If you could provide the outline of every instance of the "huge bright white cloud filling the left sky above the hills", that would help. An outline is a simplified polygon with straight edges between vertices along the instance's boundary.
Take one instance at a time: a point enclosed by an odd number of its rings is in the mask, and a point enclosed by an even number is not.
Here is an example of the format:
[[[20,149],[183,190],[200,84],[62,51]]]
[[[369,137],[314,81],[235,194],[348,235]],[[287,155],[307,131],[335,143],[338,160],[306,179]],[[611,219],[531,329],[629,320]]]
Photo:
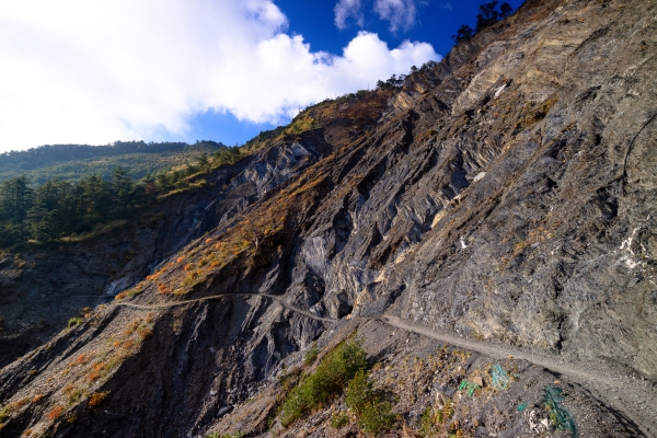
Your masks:
[[[208,110],[279,123],[439,58],[364,32],[313,53],[286,26],[269,0],[0,0],[0,151],[158,140]]]

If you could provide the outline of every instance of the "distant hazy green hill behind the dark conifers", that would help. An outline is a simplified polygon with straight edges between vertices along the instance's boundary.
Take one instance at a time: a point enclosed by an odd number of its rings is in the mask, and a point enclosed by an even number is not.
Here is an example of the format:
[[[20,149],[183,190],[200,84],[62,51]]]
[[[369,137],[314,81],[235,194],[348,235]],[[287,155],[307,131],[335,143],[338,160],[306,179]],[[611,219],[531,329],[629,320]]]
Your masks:
[[[0,182],[23,174],[32,184],[50,178],[78,182],[83,176],[99,175],[108,180],[114,168],[124,168],[134,180],[157,171],[193,161],[201,153],[211,154],[224,148],[215,141],[196,145],[183,142],[146,143],[116,141],[107,146],[48,145],[26,151],[0,153]]]

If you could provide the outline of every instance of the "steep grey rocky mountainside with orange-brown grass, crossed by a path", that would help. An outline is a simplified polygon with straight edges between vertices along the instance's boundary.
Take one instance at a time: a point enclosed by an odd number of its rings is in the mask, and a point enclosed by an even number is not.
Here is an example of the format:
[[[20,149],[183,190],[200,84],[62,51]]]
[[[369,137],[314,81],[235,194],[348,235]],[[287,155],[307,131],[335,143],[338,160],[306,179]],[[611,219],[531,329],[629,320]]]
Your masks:
[[[656,8],[528,0],[4,254],[0,435],[657,436]]]

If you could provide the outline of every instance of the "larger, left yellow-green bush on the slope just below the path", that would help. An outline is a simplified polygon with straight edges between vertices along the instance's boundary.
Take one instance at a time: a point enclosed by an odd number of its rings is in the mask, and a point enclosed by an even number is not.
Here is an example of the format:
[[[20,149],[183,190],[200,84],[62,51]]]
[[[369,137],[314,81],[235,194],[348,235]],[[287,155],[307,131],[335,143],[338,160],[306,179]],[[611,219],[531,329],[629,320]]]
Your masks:
[[[342,343],[289,393],[280,408],[280,424],[287,427],[311,410],[325,405],[358,371],[365,369],[367,354],[360,341],[350,338]]]

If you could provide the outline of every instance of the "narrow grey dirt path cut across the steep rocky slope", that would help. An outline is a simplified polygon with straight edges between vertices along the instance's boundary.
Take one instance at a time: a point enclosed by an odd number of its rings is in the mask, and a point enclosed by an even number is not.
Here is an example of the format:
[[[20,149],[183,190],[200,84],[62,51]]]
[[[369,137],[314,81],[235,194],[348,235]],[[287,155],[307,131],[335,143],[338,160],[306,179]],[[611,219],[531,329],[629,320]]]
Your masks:
[[[299,313],[307,318],[325,323],[337,323],[338,320],[319,316],[314,313],[290,304],[281,297],[266,293],[224,293],[204,297],[194,300],[176,301],[162,304],[136,304],[130,302],[118,302],[122,306],[137,310],[162,310],[178,306],[192,304],[208,300],[216,300],[227,296],[257,296],[278,302],[285,309]],[[657,437],[657,389],[655,382],[635,379],[622,372],[596,366],[595,364],[566,362],[563,358],[544,353],[527,351],[508,345],[492,344],[457,336],[452,333],[437,331],[415,323],[404,322],[396,316],[382,315],[374,318],[361,316],[364,320],[378,321],[380,323],[430,337],[457,347],[465,348],[494,359],[504,359],[512,356],[516,359],[527,360],[543,367],[554,373],[572,378],[577,383],[587,388],[593,396],[604,404],[612,406],[619,413],[630,418],[647,437]]]

